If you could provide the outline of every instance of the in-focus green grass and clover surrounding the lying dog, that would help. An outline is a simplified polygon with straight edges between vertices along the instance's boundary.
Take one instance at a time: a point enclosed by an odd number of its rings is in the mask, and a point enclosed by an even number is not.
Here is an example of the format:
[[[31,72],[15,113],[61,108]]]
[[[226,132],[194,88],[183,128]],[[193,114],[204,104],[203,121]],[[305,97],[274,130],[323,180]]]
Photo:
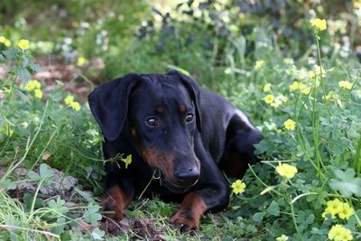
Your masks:
[[[361,238],[360,65],[352,56],[332,60],[321,56],[322,39],[315,39],[318,48],[300,60],[283,58],[275,43],[258,47],[253,56],[246,56],[237,43],[230,44],[226,65],[211,67],[207,73],[219,77],[216,82],[207,82],[201,72],[196,74],[203,84],[208,83],[251,116],[266,137],[256,150],[264,161],[246,172],[245,192],[233,193],[227,210],[207,214],[195,236],[171,227],[167,217],[179,206],[157,198],[132,202],[126,216],[150,222],[167,240],[274,240],[282,235],[289,240],[326,240],[336,224],[347,227],[355,240]],[[146,50],[142,54],[146,56]],[[61,84],[48,91],[47,97],[35,97],[33,90],[27,91],[17,81],[18,75],[27,80],[22,75],[24,68],[34,69],[23,65],[31,60],[30,53],[15,48],[5,58],[13,60],[16,71],[0,80],[0,160],[7,170],[0,180],[1,239],[114,240],[99,229],[82,235],[77,228],[84,223],[97,227],[97,200],[104,174],[101,136],[88,105],[79,111],[66,105],[69,93]],[[207,60],[203,64],[208,66]],[[316,64],[326,70],[325,76],[318,74]],[[179,68],[184,67],[180,64]],[[345,80],[350,86],[341,88],[339,83]],[[295,81],[302,84],[298,85],[301,89],[290,89]],[[269,89],[264,88],[266,84]],[[275,99],[270,104],[264,101],[267,95]],[[285,127],[288,119],[294,121],[294,129]],[[46,161],[44,153],[50,153]],[[27,199],[13,199],[19,184],[14,168],[37,170],[43,162],[76,176],[93,194],[78,190],[82,204],[76,208],[65,207],[65,197],[51,201],[38,191],[29,193]],[[280,163],[288,163],[298,172],[284,178],[275,171]],[[39,174],[30,171],[24,180],[37,183],[37,190],[48,185],[51,177],[47,165],[40,169]],[[334,199],[355,213],[349,218],[339,214],[322,217]],[[119,238],[129,237],[149,238],[134,229]]]

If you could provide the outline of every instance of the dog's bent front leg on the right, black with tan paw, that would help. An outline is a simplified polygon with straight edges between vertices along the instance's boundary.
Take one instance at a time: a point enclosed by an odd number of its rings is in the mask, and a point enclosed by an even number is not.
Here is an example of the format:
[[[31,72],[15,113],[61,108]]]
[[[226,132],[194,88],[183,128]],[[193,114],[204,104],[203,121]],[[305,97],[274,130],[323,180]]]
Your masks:
[[[195,142],[195,153],[200,161],[198,190],[184,197],[180,209],[170,220],[172,224],[182,225],[180,231],[183,232],[198,229],[199,219],[206,211],[224,209],[229,202],[227,182],[200,141]]]

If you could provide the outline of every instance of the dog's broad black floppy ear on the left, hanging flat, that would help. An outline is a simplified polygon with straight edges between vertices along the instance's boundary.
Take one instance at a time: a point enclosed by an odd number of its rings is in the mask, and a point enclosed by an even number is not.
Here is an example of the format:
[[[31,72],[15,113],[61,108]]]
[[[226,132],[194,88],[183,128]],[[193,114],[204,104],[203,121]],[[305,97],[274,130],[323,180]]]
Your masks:
[[[128,98],[138,83],[139,75],[130,73],[95,88],[88,96],[88,103],[106,140],[115,141],[125,125]]]

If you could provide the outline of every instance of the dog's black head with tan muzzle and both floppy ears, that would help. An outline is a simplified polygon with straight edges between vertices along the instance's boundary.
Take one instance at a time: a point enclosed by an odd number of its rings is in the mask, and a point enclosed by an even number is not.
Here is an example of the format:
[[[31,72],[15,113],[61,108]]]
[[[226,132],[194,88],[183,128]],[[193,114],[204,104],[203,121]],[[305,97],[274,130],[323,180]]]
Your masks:
[[[106,140],[125,137],[169,190],[181,193],[198,181],[199,86],[189,76],[131,73],[96,88],[88,102]]]

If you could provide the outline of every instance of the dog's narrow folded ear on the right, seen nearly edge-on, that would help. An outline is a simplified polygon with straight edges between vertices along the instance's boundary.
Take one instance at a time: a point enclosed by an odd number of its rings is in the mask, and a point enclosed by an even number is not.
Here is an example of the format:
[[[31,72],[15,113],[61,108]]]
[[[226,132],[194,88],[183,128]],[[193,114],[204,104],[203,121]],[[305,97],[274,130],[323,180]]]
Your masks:
[[[190,76],[185,75],[177,70],[170,70],[167,75],[175,76],[178,79],[180,79],[180,82],[187,88],[188,92],[190,93],[190,98],[192,99],[194,103],[194,107],[196,108],[196,124],[197,129],[199,130],[199,133],[202,130],[201,125],[201,117],[200,117],[200,93],[199,93],[199,85],[197,84],[196,80],[192,79]]]

